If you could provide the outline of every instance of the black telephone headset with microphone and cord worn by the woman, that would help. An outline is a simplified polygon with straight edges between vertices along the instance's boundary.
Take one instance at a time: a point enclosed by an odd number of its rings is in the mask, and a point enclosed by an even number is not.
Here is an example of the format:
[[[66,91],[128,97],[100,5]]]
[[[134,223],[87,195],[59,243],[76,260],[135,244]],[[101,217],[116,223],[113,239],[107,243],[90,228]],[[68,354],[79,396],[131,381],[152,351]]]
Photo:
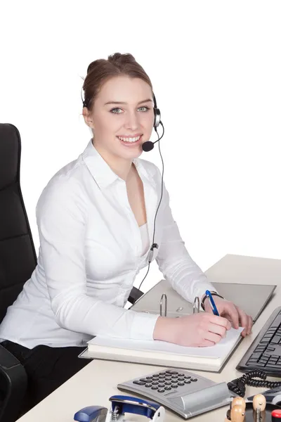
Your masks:
[[[164,125],[163,125],[163,123],[162,123],[162,121],[161,121],[161,113],[160,113],[159,108],[157,108],[157,102],[156,102],[155,94],[154,94],[153,92],[152,92],[152,95],[153,95],[153,101],[154,101],[154,106],[153,106],[153,112],[154,112],[154,122],[153,122],[153,127],[154,127],[154,129],[155,129],[155,132],[157,133],[158,139],[157,139],[157,141],[154,141],[154,142],[152,142],[152,141],[145,141],[145,142],[143,142],[143,144],[142,144],[142,148],[143,148],[143,151],[145,151],[146,153],[148,153],[149,151],[151,151],[151,150],[154,148],[154,144],[155,144],[156,142],[159,142],[159,141],[160,141],[160,139],[162,139],[162,137],[164,136],[164,132],[165,132]],[[81,99],[82,99],[82,101],[83,101],[82,96],[81,96]],[[87,107],[88,105],[89,105],[89,99],[88,99],[88,98],[86,98],[86,99],[83,101],[83,107]],[[157,132],[157,127],[159,127],[159,124],[161,124],[162,129],[163,129],[163,133],[162,133],[162,135],[161,135],[160,137],[159,137],[159,134],[158,134],[158,132]],[[150,251],[148,252],[148,271],[150,270],[150,262],[151,262],[151,260],[152,260],[153,250],[154,250],[155,248],[156,248],[156,249],[158,249],[158,247],[159,247],[159,245],[158,245],[157,243],[154,243],[154,238],[155,238],[155,220],[156,220],[156,217],[157,217],[157,212],[158,212],[158,210],[159,210],[159,206],[160,206],[160,204],[161,204],[161,201],[162,201],[162,196],[163,196],[164,162],[163,162],[162,154],[161,154],[161,151],[160,151],[160,143],[158,144],[158,146],[159,146],[159,154],[160,154],[160,157],[161,157],[161,160],[162,160],[161,196],[160,196],[159,204],[158,204],[158,207],[157,207],[157,210],[156,210],[156,213],[155,213],[155,219],[154,219],[154,222],[153,222],[153,238],[152,238],[152,245],[151,245],[151,247],[150,247]],[[145,274],[145,276],[144,276],[144,278],[143,278],[143,281],[145,280],[146,276],[148,275],[148,271],[147,271],[147,273]],[[141,281],[140,286],[138,286],[138,290],[141,288],[141,285],[143,284],[143,281]]]

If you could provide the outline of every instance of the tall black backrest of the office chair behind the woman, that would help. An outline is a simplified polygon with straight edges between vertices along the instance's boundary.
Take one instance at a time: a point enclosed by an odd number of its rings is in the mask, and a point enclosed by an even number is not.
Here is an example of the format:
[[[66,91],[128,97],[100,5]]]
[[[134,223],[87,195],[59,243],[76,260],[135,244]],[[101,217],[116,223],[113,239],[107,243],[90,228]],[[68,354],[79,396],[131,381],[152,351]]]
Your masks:
[[[37,265],[20,190],[20,132],[0,123],[0,323]]]

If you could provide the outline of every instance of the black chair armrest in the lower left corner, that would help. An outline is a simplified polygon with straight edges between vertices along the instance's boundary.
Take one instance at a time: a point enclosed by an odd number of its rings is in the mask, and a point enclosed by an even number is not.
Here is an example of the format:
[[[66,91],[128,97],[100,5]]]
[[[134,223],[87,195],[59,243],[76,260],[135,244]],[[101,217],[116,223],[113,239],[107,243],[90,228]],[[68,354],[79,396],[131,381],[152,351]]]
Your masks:
[[[0,344],[0,376],[4,380],[4,401],[0,408],[0,421],[15,422],[20,416],[22,400],[27,390],[27,373],[11,352]]]

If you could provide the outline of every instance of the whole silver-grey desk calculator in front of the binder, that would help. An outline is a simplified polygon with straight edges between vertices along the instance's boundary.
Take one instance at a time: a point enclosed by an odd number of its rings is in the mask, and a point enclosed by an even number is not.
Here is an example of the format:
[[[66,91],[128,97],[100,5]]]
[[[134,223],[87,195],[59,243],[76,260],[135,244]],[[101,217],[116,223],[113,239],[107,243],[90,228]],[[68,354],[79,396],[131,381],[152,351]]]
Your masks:
[[[119,383],[117,388],[148,397],[184,419],[229,405],[233,397],[227,383],[214,383],[185,369],[148,373]]]

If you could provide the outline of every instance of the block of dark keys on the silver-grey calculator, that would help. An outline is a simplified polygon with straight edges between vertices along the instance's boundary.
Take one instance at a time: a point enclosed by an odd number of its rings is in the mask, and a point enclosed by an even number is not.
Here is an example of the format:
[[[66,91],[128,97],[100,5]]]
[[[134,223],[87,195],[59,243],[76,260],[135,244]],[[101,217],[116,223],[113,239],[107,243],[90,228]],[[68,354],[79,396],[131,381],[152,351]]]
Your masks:
[[[145,378],[138,378],[133,381],[133,384],[143,385],[143,387],[157,390],[157,392],[166,392],[172,388],[196,383],[196,381],[197,378],[185,375],[185,373],[167,370],[155,373],[152,376],[146,376]]]

